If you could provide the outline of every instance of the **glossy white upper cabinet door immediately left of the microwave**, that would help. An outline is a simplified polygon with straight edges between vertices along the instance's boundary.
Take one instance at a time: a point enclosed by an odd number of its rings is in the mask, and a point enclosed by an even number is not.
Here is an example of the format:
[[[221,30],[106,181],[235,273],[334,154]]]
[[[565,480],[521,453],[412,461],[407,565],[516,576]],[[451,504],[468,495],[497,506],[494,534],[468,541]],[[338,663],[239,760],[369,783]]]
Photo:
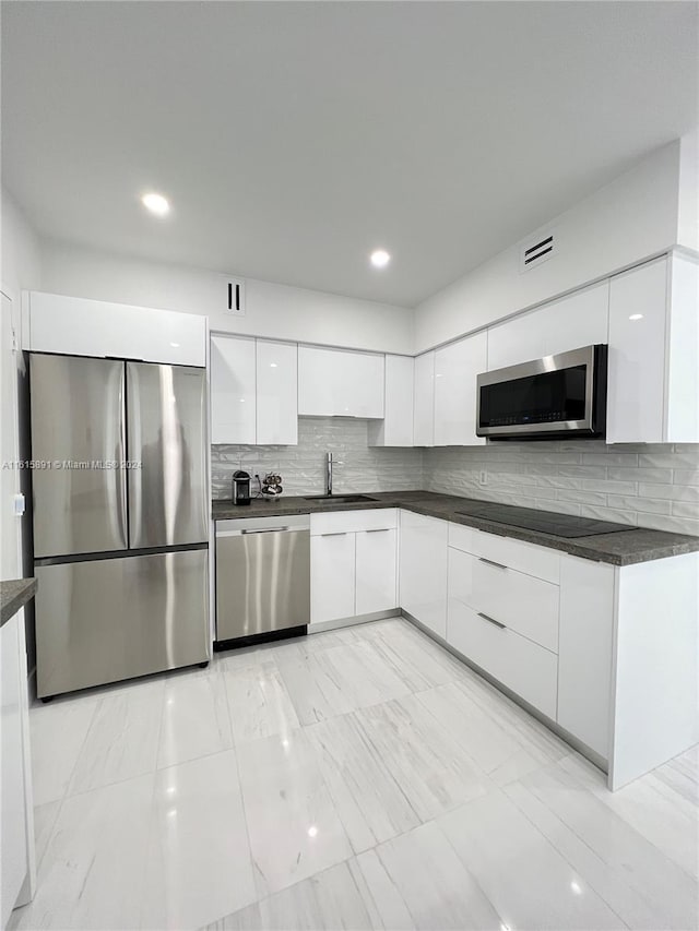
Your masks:
[[[484,330],[435,353],[435,445],[479,446],[476,437],[476,375],[487,366]]]

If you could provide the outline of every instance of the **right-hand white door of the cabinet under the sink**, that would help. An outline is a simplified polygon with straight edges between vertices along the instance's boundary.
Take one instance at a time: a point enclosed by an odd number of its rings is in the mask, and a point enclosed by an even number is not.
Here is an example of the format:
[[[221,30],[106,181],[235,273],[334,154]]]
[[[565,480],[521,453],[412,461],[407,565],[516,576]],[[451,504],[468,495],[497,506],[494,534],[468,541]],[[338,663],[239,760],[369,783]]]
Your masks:
[[[356,612],[398,607],[396,530],[365,530],[356,538]]]

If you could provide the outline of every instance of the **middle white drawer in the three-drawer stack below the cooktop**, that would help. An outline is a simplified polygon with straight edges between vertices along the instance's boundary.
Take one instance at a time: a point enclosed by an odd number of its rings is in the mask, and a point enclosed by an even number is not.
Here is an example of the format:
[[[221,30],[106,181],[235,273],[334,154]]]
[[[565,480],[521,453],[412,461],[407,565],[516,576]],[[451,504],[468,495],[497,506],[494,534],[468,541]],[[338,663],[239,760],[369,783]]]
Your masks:
[[[450,549],[449,595],[546,649],[558,652],[557,585]]]

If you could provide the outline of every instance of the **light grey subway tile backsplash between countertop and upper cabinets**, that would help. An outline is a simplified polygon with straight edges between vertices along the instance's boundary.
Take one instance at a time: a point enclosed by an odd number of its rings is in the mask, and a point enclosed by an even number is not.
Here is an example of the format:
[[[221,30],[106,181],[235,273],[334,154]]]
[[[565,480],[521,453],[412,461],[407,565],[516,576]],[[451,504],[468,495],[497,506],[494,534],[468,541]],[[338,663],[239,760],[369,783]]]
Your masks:
[[[230,498],[237,468],[281,473],[287,494],[322,493],[327,451],[335,454],[337,492],[424,488],[699,535],[699,444],[558,440],[379,449],[368,445],[366,420],[301,417],[297,446],[212,446],[214,497]]]

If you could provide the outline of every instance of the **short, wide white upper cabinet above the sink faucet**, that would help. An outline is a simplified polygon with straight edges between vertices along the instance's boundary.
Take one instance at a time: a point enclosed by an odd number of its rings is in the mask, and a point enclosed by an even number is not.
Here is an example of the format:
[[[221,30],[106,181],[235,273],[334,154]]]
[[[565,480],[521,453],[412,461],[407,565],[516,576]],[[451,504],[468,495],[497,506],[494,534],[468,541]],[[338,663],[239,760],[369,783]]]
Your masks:
[[[298,347],[298,413],[308,417],[383,417],[383,356]]]

